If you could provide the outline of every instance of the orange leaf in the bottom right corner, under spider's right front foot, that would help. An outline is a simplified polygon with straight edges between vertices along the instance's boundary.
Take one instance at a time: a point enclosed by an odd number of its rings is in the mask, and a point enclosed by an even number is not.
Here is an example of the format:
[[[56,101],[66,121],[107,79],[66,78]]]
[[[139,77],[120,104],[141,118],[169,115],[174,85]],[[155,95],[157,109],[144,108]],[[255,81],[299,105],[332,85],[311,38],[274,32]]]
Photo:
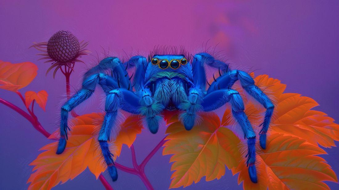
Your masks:
[[[233,174],[238,172],[238,183],[244,190],[310,189],[330,190],[322,181],[338,182],[336,174],[318,154],[326,154],[318,146],[298,137],[272,132],[266,150],[257,156],[258,183],[248,175],[245,159]]]

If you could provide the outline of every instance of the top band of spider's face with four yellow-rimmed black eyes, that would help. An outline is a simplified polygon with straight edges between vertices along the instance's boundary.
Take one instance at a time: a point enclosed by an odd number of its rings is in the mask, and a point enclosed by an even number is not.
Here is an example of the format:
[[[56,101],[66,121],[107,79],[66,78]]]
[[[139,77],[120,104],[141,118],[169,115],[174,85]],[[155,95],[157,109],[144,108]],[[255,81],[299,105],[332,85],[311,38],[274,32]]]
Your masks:
[[[185,55],[154,55],[150,61],[160,69],[178,69],[188,62]]]

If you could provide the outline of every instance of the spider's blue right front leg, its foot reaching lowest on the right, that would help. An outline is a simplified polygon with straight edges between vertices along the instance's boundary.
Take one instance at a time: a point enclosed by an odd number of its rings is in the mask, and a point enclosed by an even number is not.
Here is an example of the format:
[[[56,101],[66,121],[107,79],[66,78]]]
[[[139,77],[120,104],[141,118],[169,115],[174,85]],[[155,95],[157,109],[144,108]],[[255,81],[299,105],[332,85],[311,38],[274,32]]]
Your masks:
[[[218,100],[218,101],[216,101]],[[251,181],[257,183],[257,172],[255,167],[256,151],[255,142],[256,135],[253,131],[250,121],[248,121],[247,115],[244,112],[244,104],[239,92],[232,89],[220,89],[207,93],[201,103],[204,111],[212,111],[220,108],[226,102],[231,102],[232,115],[239,123],[242,131],[244,132],[245,139],[247,138],[247,166],[248,173]]]

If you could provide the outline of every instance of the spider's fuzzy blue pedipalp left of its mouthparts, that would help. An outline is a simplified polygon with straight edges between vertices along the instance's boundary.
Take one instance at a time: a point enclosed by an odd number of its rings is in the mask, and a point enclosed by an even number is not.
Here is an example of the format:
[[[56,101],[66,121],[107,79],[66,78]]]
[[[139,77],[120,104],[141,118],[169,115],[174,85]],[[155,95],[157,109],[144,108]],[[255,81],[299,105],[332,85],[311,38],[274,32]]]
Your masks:
[[[159,122],[162,119],[160,113],[164,109],[164,106],[151,96],[152,93],[148,88],[140,86],[137,94],[140,97],[139,103],[141,107],[139,110],[142,115],[146,116],[145,120],[149,131],[155,134],[159,129]]]

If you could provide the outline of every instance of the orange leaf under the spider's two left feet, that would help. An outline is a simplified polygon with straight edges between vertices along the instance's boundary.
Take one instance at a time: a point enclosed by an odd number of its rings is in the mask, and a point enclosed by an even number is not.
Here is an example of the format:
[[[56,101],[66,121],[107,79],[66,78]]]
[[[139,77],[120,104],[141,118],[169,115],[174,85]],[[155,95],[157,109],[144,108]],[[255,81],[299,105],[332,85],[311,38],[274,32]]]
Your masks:
[[[31,182],[28,190],[46,189],[65,183],[73,179],[87,167],[98,178],[105,171],[105,164],[98,143],[100,125],[103,114],[92,113],[78,116],[74,119],[68,136],[66,149],[62,154],[55,153],[58,142],[53,142],[42,147],[42,152],[30,165],[36,170],[29,177],[27,183]],[[128,117],[121,126],[121,133],[117,136],[117,145],[109,142],[110,149],[114,155],[120,154],[121,145],[131,146],[135,135],[141,132],[141,125],[137,125],[137,117]],[[126,135],[128,134],[128,135]],[[49,138],[58,138],[59,131],[54,132]],[[116,159],[116,156],[114,157]]]

